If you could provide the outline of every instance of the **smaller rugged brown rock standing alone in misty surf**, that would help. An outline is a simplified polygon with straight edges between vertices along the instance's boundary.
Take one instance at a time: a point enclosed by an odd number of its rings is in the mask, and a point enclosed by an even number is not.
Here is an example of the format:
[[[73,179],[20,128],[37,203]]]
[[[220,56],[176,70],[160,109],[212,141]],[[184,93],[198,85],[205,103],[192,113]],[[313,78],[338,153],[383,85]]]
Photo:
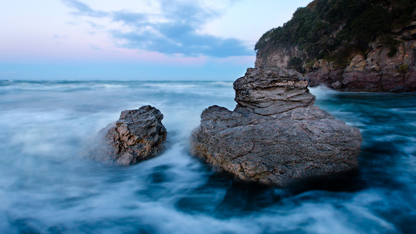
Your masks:
[[[155,107],[125,110],[116,123],[101,130],[103,142],[93,157],[117,165],[132,165],[157,156],[164,149],[166,128]]]

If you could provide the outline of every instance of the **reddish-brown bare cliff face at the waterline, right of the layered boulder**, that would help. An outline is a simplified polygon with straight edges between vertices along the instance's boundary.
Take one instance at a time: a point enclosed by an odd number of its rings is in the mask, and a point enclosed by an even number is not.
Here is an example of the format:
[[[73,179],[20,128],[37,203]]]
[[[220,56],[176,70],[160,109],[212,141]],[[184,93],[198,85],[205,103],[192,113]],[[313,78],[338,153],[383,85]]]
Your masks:
[[[318,60],[306,70],[306,80],[311,87],[324,84],[342,91],[416,91],[416,40],[401,36],[397,41],[397,53],[392,57],[388,56],[390,48],[376,41],[366,57],[355,55],[345,68]]]

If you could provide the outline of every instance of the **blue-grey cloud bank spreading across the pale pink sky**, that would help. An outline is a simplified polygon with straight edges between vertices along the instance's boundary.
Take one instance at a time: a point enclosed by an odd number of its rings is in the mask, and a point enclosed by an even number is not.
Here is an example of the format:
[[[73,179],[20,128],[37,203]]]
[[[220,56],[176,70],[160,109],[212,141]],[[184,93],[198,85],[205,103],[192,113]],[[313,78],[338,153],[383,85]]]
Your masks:
[[[222,38],[199,33],[207,22],[218,19],[224,9],[218,9],[207,1],[159,0],[157,9],[134,12],[131,10],[94,10],[86,3],[62,0],[72,8],[71,14],[79,17],[108,18],[122,25],[108,30],[119,40],[119,46],[140,51],[187,57],[232,57],[254,55],[241,40]],[[232,4],[234,1],[222,1]],[[212,3],[212,1],[211,1]],[[142,4],[145,4],[142,2]],[[225,5],[227,5],[225,4]]]

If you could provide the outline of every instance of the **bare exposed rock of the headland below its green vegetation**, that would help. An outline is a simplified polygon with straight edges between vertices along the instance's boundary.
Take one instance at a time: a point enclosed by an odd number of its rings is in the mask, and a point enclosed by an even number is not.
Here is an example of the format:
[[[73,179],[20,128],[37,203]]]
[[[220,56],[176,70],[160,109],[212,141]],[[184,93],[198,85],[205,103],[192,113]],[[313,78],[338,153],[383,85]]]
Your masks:
[[[338,66],[329,60],[315,60],[311,64],[302,63],[304,76],[311,87],[320,84],[338,91],[365,92],[409,92],[416,91],[416,22],[414,32],[408,37],[402,36],[397,45],[397,53],[390,57],[390,48],[376,41],[370,45],[370,51],[358,53],[349,58],[348,66]],[[404,35],[407,35],[404,34]],[[404,39],[404,38],[411,39]],[[257,52],[256,67],[279,67],[288,69],[293,57],[306,53],[298,46],[286,46],[267,52]]]

